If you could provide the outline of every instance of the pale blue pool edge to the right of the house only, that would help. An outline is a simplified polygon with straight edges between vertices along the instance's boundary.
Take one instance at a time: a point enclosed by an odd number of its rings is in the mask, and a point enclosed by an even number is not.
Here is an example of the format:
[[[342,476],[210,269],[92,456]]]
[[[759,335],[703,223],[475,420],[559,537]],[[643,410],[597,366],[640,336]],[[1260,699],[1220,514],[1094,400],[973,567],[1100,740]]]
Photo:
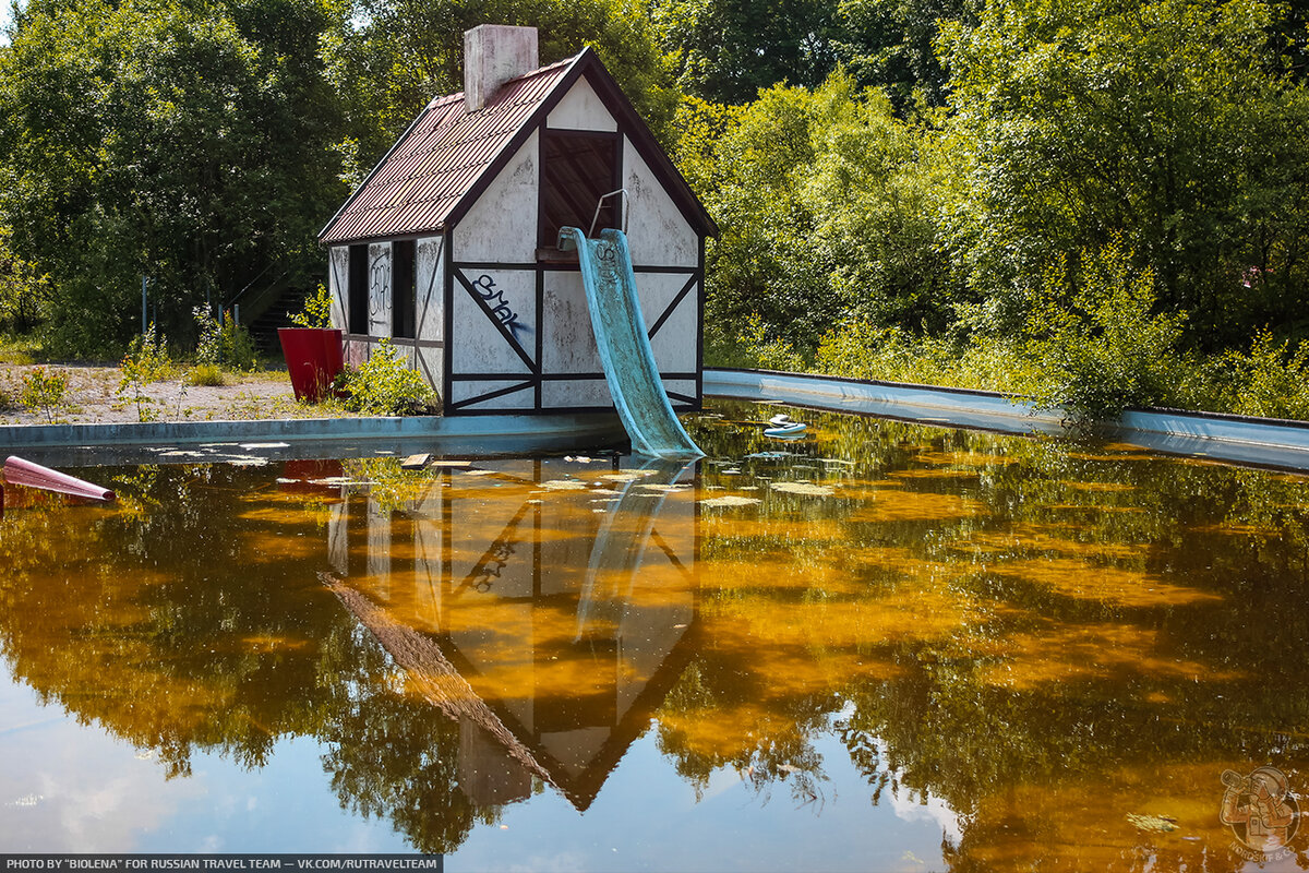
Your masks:
[[[1001,433],[1067,433],[1066,415],[997,391],[776,370],[706,368],[706,395],[775,399],[835,412]],[[935,414],[935,415],[933,415]],[[1247,466],[1309,470],[1309,421],[1134,408],[1103,433],[1152,452]]]

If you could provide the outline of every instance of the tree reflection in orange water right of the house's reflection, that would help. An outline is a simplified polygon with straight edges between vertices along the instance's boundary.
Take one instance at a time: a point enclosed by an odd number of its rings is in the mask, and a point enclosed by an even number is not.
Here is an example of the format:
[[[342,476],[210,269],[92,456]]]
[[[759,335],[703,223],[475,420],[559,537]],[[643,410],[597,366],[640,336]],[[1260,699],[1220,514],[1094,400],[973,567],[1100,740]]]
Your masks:
[[[724,431],[696,432],[746,472],[836,487],[825,500],[754,492],[767,524],[750,510],[702,520],[704,645],[660,719],[683,774],[789,776],[779,764],[844,708],[835,728],[874,801],[929,792],[962,814],[954,866],[1077,866],[1058,846],[1102,844],[1094,827],[1141,804],[1216,802],[1217,762],[1295,772],[1309,758],[1305,479],[792,414],[819,435],[784,446],[801,458],[742,458]],[[706,484],[740,486],[715,470]],[[848,633],[842,602],[857,614]],[[823,632],[788,632],[797,622]],[[778,687],[785,675],[804,682]],[[692,716],[715,729],[692,732]],[[1122,789],[1136,774],[1141,787]],[[1213,831],[1216,806],[1195,815],[1187,827]],[[1145,864],[1113,846],[1097,866]],[[1204,866],[1202,848],[1178,846],[1156,860]]]

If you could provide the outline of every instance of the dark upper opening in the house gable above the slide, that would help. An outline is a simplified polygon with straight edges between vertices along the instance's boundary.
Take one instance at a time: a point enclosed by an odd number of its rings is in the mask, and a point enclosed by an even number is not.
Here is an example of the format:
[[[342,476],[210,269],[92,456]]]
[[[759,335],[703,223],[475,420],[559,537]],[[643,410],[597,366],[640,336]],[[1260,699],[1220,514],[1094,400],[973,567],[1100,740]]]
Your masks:
[[[554,249],[559,228],[590,230],[596,204],[618,190],[618,143],[614,134],[575,131],[541,132],[541,238],[542,249]],[[622,198],[609,198],[596,221],[596,233],[618,228]]]

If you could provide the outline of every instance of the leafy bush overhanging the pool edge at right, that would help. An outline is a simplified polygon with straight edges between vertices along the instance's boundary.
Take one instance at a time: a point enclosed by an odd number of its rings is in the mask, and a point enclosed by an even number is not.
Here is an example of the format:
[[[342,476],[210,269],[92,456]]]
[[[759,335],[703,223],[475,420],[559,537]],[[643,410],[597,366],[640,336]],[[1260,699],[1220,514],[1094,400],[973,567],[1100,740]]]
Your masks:
[[[1084,251],[1075,270],[1059,258],[1046,271],[1026,323],[1042,368],[1039,407],[1097,421],[1172,398],[1186,318],[1153,313],[1155,274],[1132,262],[1130,250],[1110,243]]]

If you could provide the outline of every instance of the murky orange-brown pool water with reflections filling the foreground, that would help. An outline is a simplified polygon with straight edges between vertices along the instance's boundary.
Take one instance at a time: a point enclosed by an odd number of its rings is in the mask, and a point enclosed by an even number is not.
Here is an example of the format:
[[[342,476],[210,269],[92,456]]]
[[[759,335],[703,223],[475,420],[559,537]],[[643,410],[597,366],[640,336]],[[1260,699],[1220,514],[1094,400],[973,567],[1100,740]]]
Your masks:
[[[1309,479],[715,411],[686,467],[8,490],[0,852],[1309,869]]]

